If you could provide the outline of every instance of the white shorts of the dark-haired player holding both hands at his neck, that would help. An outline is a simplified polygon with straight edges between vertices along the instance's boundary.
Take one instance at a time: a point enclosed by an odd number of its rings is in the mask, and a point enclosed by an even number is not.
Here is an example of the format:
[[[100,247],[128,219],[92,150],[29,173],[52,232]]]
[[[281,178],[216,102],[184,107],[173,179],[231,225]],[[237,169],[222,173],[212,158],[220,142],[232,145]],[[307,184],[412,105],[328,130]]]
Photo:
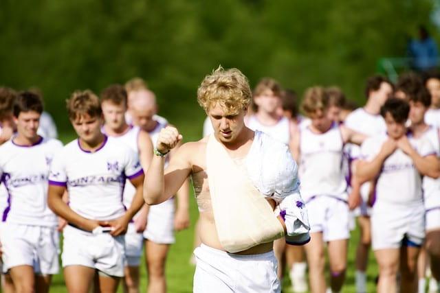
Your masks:
[[[421,246],[425,239],[423,204],[410,207],[376,203],[371,213],[373,250]]]

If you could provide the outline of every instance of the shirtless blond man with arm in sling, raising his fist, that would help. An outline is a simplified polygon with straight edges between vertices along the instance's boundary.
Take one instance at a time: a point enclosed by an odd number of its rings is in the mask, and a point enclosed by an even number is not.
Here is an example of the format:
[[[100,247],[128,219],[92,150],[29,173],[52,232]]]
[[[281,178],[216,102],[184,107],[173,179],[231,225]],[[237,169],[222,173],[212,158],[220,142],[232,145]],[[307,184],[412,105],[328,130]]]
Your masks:
[[[287,230],[289,242],[309,241],[296,163],[286,145],[245,126],[251,96],[238,69],[206,76],[197,99],[214,134],[182,145],[164,171],[166,154],[182,139],[176,128],[165,128],[146,173],[147,204],[167,200],[192,177],[202,242],[194,292],[280,292],[274,239]]]

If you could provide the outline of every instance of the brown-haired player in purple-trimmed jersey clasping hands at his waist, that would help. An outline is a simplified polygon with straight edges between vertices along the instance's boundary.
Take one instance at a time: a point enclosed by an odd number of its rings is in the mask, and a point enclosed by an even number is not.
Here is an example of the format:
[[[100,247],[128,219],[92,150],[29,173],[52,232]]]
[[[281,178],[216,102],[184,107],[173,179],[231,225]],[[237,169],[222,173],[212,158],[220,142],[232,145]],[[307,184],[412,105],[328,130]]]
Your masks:
[[[52,161],[49,205],[67,220],[63,268],[69,292],[89,292],[98,271],[98,292],[116,292],[124,276],[124,236],[144,204],[144,175],[137,154],[128,145],[102,134],[102,110],[91,91],[76,91],[67,112],[78,139],[65,145]],[[128,178],[136,189],[131,207],[122,202]],[[69,193],[67,205],[62,196]]]

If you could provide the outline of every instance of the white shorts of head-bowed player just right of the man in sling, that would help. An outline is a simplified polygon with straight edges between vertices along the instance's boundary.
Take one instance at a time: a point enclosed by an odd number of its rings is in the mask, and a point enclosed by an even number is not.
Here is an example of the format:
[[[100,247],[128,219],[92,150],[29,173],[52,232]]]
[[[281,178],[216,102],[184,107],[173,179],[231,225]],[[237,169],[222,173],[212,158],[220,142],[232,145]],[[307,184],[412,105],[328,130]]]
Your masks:
[[[350,211],[347,202],[332,196],[317,196],[306,205],[310,233],[322,232],[325,242],[349,239]]]

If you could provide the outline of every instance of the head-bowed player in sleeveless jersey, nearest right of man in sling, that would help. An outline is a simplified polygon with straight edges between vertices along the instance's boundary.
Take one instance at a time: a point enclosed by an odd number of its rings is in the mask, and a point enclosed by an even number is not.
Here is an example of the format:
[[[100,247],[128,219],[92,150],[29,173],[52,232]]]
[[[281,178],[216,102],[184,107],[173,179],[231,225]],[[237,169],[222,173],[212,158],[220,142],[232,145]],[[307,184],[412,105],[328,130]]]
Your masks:
[[[334,98],[334,97],[333,97]],[[365,136],[338,124],[329,115],[331,93],[320,86],[306,91],[302,108],[311,119],[296,132],[292,152],[299,163],[301,194],[307,204],[311,242],[305,246],[311,292],[325,292],[325,244],[329,252],[331,292],[340,292],[347,268],[350,235],[345,143],[360,145]],[[333,113],[333,116],[337,116]]]

